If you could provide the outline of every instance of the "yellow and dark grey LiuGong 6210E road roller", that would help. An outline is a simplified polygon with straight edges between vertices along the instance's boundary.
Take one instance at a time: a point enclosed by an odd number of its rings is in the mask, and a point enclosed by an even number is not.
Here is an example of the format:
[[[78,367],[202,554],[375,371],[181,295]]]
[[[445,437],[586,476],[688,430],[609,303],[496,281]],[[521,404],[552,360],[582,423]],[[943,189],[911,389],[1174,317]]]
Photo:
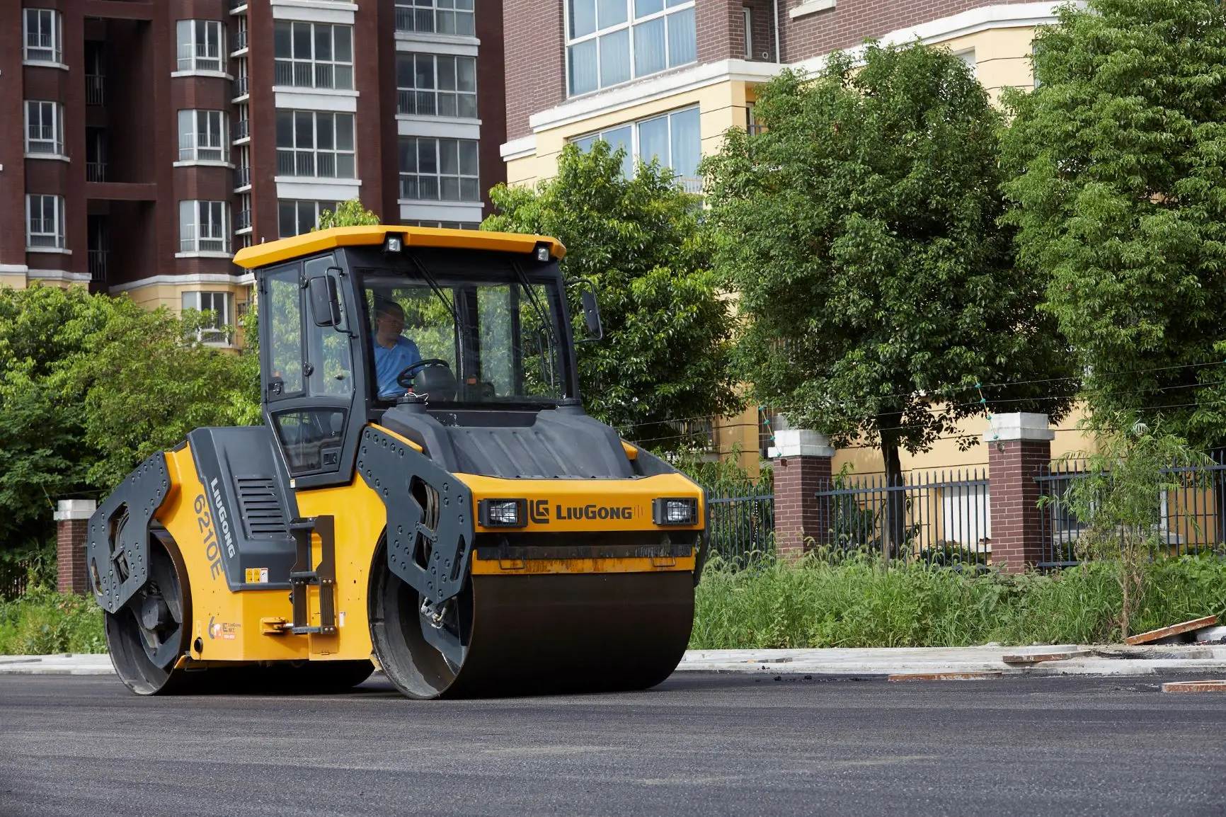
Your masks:
[[[400,226],[240,250],[262,424],[190,432],[89,520],[119,678],[137,694],[329,692],[378,669],[433,699],[668,677],[706,501],[585,413],[575,347],[603,331],[564,254]]]

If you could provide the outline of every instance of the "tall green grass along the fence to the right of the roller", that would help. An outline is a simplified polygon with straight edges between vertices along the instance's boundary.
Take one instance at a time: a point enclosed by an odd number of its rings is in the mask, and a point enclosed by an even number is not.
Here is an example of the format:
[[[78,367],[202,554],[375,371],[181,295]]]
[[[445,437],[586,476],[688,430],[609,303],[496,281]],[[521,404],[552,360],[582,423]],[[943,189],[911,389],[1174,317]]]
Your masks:
[[[881,570],[873,558],[763,561],[707,567],[691,649],[966,646],[1119,640],[1121,585],[1112,563],[1052,574],[961,573],[923,563]],[[1133,629],[1226,612],[1226,561],[1146,566]]]

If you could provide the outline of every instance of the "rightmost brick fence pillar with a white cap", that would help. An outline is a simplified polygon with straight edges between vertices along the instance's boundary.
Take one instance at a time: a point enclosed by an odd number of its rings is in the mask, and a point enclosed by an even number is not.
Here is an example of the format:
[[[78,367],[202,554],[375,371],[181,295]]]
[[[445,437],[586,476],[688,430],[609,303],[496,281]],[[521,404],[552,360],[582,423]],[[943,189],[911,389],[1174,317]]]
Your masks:
[[[988,447],[992,563],[1021,573],[1042,558],[1038,483],[1035,476],[1052,461],[1047,415],[996,415],[983,434]]]

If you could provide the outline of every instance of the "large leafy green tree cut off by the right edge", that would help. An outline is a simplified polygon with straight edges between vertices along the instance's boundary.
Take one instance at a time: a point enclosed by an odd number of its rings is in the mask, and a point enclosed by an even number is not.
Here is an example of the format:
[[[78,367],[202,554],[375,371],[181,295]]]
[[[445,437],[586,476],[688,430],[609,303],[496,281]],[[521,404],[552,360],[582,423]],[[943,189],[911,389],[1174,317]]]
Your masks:
[[[1065,6],[1038,29],[1034,65],[1038,86],[1003,97],[1008,221],[1091,410],[1226,442],[1226,369],[1205,366],[1226,352],[1226,11]]]

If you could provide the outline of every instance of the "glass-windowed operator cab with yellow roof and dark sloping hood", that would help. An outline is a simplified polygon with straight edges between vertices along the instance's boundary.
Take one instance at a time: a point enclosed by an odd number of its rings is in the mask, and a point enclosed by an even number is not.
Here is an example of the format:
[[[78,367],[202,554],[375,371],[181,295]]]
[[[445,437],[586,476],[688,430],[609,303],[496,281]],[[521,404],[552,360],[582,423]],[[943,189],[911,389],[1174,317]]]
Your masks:
[[[265,420],[299,487],[347,483],[367,423],[452,472],[631,476],[579,401],[555,240],[352,227],[251,250]]]

